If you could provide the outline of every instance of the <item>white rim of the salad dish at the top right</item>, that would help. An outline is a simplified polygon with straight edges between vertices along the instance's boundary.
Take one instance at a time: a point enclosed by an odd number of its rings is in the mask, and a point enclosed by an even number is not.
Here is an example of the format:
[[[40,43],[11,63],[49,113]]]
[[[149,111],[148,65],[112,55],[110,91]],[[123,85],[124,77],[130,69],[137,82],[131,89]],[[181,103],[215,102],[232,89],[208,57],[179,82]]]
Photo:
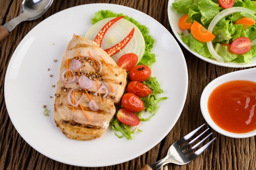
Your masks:
[[[169,0],[168,2],[168,19],[171,25],[171,29],[173,30],[174,35],[176,36],[176,38],[180,41],[180,43],[189,51],[191,52],[193,55],[197,56],[198,58],[207,61],[208,63],[212,63],[215,65],[220,65],[220,66],[224,66],[224,67],[234,67],[234,68],[242,68],[242,67],[253,67],[256,66],[256,57],[252,58],[252,60],[245,64],[245,63],[233,63],[233,62],[224,62],[224,63],[220,63],[217,60],[213,60],[211,58],[205,58],[204,56],[196,53],[195,51],[192,51],[188,45],[186,45],[182,39],[180,38],[179,33],[182,32],[182,29],[179,27],[178,25],[178,21],[180,19],[180,17],[183,14],[177,13],[172,6],[172,3],[175,2],[175,0]]]

